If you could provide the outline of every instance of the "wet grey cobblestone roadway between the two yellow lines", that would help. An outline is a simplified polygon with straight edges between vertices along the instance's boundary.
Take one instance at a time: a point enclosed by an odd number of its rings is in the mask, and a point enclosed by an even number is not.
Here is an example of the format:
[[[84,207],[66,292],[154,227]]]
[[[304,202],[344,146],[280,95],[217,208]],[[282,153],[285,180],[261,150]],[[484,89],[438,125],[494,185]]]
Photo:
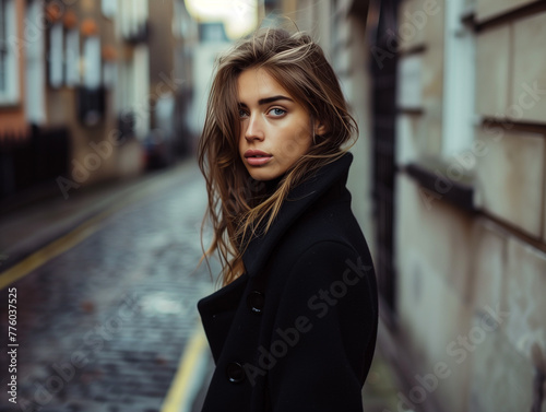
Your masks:
[[[0,411],[161,409],[199,323],[197,301],[213,285],[206,264],[195,270],[206,203],[199,170],[191,164],[147,185],[161,189],[9,286],[17,294],[17,404],[5,393],[8,287],[0,292]]]

